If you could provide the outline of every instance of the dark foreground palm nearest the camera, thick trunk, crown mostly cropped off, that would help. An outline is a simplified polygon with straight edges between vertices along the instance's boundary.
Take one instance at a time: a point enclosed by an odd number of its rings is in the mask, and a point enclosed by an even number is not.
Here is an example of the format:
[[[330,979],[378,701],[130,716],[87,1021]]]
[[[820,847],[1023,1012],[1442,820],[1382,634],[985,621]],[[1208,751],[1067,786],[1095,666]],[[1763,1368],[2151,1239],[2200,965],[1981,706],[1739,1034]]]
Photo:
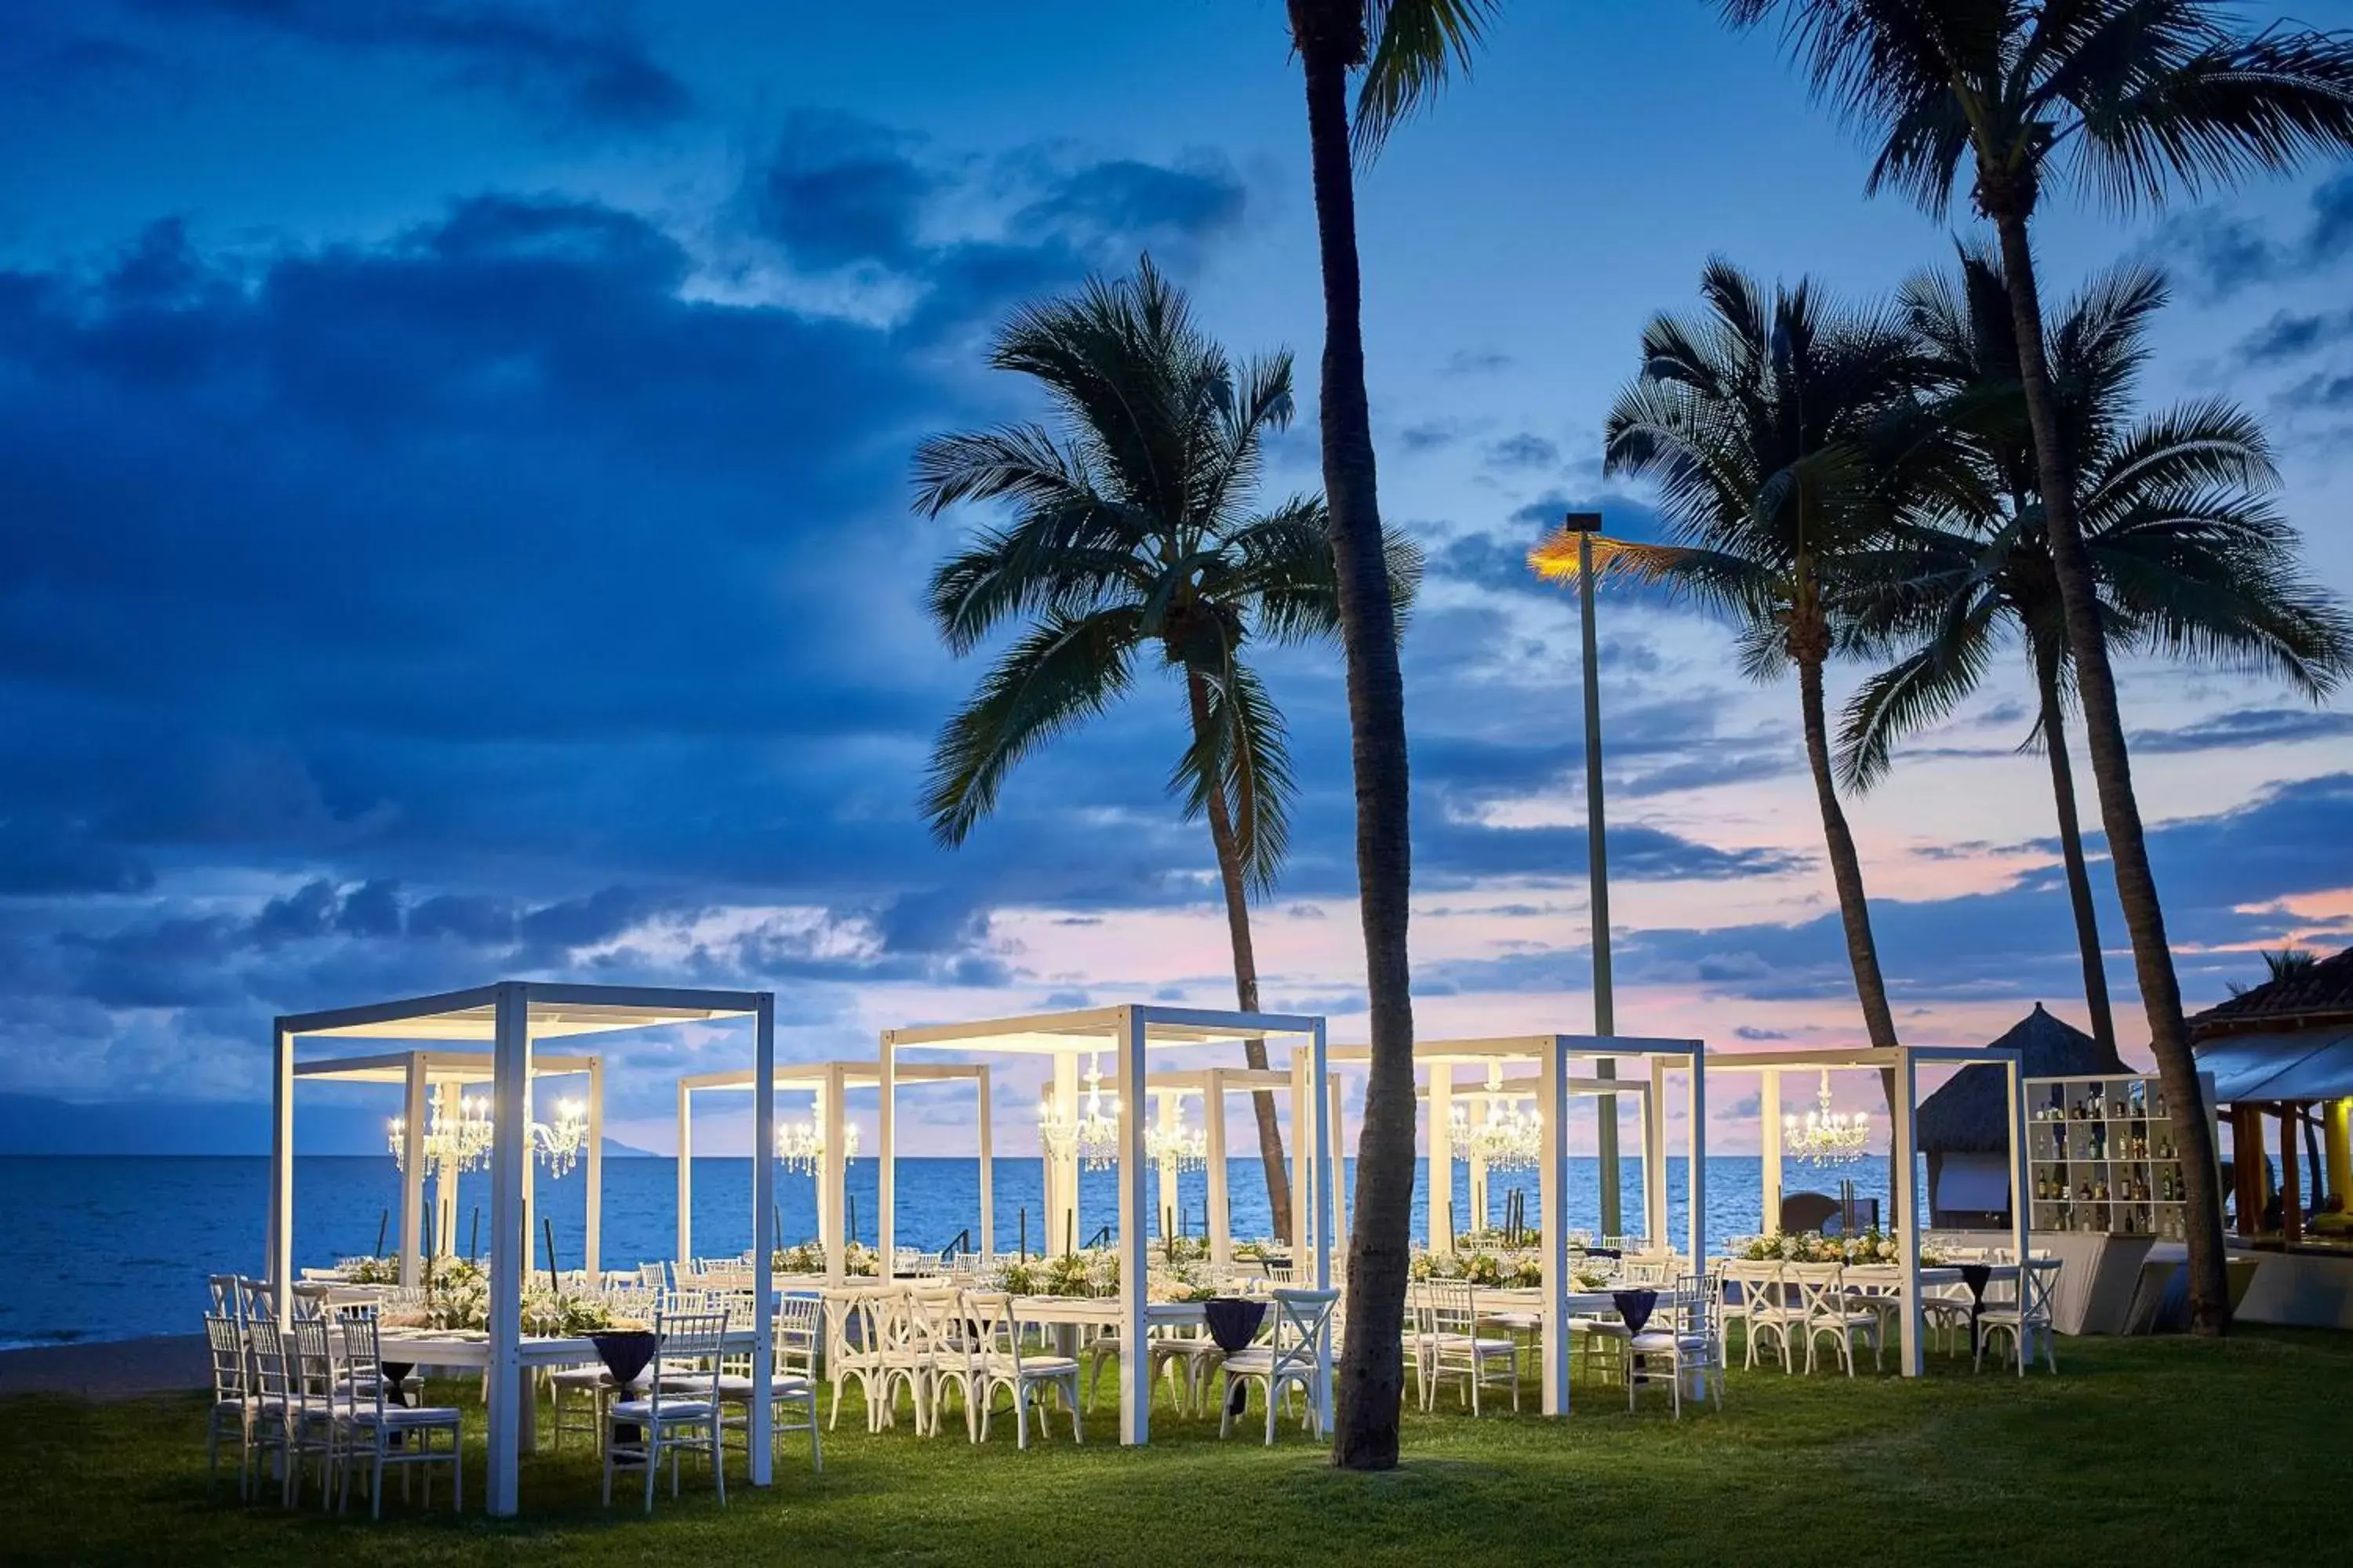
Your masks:
[[[1405,1286],[1414,1241],[1414,999],[1405,957],[1412,893],[1412,788],[1405,766],[1405,682],[1391,611],[1365,393],[1365,280],[1355,254],[1355,155],[1468,68],[1494,0],[1287,0],[1306,80],[1315,179],[1315,244],[1325,284],[1322,470],[1339,562],[1348,651],[1348,736],[1355,766],[1355,875],[1365,924],[1372,1063],[1348,1237],[1348,1326],[1339,1363],[1332,1460],[1398,1462],[1405,1394]],[[1360,78],[1355,120],[1348,80]]]

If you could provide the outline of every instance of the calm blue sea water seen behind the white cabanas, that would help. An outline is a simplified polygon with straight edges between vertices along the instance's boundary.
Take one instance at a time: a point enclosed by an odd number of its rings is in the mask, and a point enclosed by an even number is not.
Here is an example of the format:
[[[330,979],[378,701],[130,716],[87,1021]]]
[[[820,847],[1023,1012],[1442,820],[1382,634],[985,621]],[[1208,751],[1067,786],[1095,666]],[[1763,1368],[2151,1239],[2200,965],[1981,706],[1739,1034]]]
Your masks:
[[[1235,1159],[1231,1173],[1233,1234],[1268,1232],[1266,1178],[1254,1159]],[[1353,1175],[1351,1161],[1351,1175]],[[972,1159],[906,1159],[899,1166],[899,1241],[946,1246],[967,1225],[979,1227],[979,1166]],[[1624,1213],[1640,1227],[1642,1161],[1624,1161]],[[1885,1199],[1887,1161],[1859,1161],[1845,1175],[1857,1190]],[[14,1262],[9,1288],[0,1291],[0,1345],[54,1345],[64,1340],[125,1340],[148,1333],[195,1333],[205,1309],[205,1274],[259,1274],[268,1211],[268,1159],[68,1159],[0,1157],[0,1255]],[[1708,1234],[1715,1239],[1758,1229],[1755,1157],[1708,1159]],[[1094,1232],[1118,1218],[1115,1171],[1080,1178],[1080,1225]],[[1424,1185],[1414,1194],[1414,1234],[1424,1225]],[[1793,1175],[1791,1187],[1800,1180]],[[1155,1182],[1158,1187],[1158,1182]],[[1529,1218],[1537,1192],[1527,1175],[1492,1180],[1494,1218],[1504,1218],[1506,1192],[1525,1187]],[[1468,1173],[1454,1168],[1457,1213],[1468,1211]],[[586,1173],[539,1180],[539,1213],[555,1225],[562,1267],[579,1267]],[[875,1237],[875,1161],[849,1166],[856,1234]],[[306,1157],[294,1161],[294,1262],[325,1267],[336,1258],[376,1246],[376,1227],[400,1201],[400,1180],[381,1157]],[[781,1234],[800,1241],[816,1234],[816,1192],[805,1175],[779,1175]],[[1153,1232],[1165,1194],[1153,1194]],[[1200,1229],[1207,1175],[1179,1180],[1176,1204],[1186,1227]],[[995,1164],[998,1246],[1012,1248],[1028,1215],[1031,1246],[1042,1244],[1040,1166],[1035,1159]],[[489,1178],[471,1175],[459,1187],[459,1246],[468,1251],[475,1208],[487,1225]],[[1685,1161],[1668,1159],[1668,1225],[1685,1234]],[[1567,1215],[1572,1227],[1595,1227],[1600,1178],[1593,1159],[1569,1161]],[[395,1222],[398,1225],[398,1222]],[[668,1258],[678,1234],[678,1161],[605,1161],[605,1265],[626,1267]],[[1085,1239],[1085,1237],[1082,1237]],[[391,1241],[388,1241],[391,1246]],[[751,1161],[694,1161],[694,1251],[739,1253],[751,1246]],[[534,1262],[539,1258],[534,1255]]]

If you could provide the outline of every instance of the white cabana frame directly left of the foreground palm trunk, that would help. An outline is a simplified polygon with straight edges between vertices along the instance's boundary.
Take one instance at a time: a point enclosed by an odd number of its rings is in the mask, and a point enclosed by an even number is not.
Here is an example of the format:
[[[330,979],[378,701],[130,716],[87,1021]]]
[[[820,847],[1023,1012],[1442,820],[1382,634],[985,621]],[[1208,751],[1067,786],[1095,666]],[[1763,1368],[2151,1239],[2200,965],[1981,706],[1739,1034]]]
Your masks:
[[[1181,1009],[1181,1006],[1106,1006],[1085,1009],[1071,1013],[1031,1013],[1024,1018],[993,1018],[981,1023],[948,1023],[927,1025],[913,1030],[885,1030],[882,1032],[882,1117],[880,1117],[880,1220],[878,1241],[882,1251],[882,1274],[889,1276],[894,1244],[896,1244],[896,1079],[899,1079],[899,1056],[906,1051],[955,1051],[962,1056],[1002,1053],[1002,1056],[1042,1056],[1054,1065],[1056,1100],[1061,1105],[1075,1105],[1078,1093],[1078,1058],[1108,1051],[1118,1065],[1118,1077],[1113,1091],[1120,1100],[1120,1342],[1139,1347],[1146,1342],[1146,1300],[1151,1295],[1148,1276],[1148,1246],[1151,1237],[1151,1206],[1146,1201],[1146,1168],[1144,1159],[1144,1117],[1146,1117],[1146,1093],[1151,1084],[1148,1058],[1153,1051],[1181,1048],[1181,1046],[1226,1046],[1242,1044],[1245,1039],[1275,1041],[1292,1039],[1292,1077],[1304,1077],[1308,1084],[1322,1084],[1327,1079],[1325,1063],[1325,1020],[1301,1013],[1221,1013],[1207,1009]],[[1304,1046],[1304,1048],[1301,1048]],[[1306,1058],[1306,1060],[1301,1060]],[[1332,1288],[1332,1234],[1329,1227],[1315,1225],[1313,1215],[1327,1215],[1332,1211],[1332,1117],[1329,1100],[1320,1093],[1304,1093],[1306,1121],[1304,1128],[1292,1128],[1294,1143],[1301,1145],[1304,1154],[1294,1157],[1308,1164],[1308,1180],[1313,1187],[1311,1204],[1306,1213],[1308,1220],[1301,1227],[1306,1237],[1294,1239],[1294,1246],[1313,1260],[1313,1281],[1318,1291]],[[1047,1159],[1052,1171],[1054,1161]],[[1066,1187],[1068,1197],[1056,1197],[1054,1187]],[[1056,1204],[1061,1213],[1073,1215],[1066,1220],[1064,1234],[1075,1234],[1078,1213],[1078,1180],[1075,1171],[1068,1182],[1047,1182],[1049,1187],[1049,1225],[1054,1220]],[[1052,1246],[1052,1229],[1047,1232],[1047,1244]],[[1127,1354],[1120,1359],[1120,1443],[1146,1443],[1151,1441],[1153,1420],[1153,1380],[1151,1380],[1151,1356]],[[1327,1389],[1329,1399],[1329,1389]],[[1329,1425],[1332,1410],[1325,1410],[1325,1422]]]

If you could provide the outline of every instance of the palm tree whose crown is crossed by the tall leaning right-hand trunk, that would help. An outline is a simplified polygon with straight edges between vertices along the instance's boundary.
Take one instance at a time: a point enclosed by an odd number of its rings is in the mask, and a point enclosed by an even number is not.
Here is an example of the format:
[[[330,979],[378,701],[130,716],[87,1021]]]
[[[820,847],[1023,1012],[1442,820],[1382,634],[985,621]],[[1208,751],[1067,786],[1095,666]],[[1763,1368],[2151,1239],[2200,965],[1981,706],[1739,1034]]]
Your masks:
[[[1955,534],[1934,541],[1944,548],[1922,550],[1887,588],[1889,625],[1925,628],[1925,637],[1847,705],[1840,780],[1866,790],[1885,776],[1889,748],[1965,698],[1998,642],[2017,632],[2035,682],[2028,743],[2042,745],[2052,769],[2085,1006],[2094,1039],[2113,1051],[2068,764],[2066,618],[2035,491],[2009,289],[1998,261],[1965,249],[1958,275],[1915,277],[1904,306],[1937,362],[1946,409],[1969,430],[1981,489],[1953,520]],[[2115,270],[2045,331],[2104,635],[2118,649],[2278,675],[2320,698],[2353,668],[2353,628],[2297,569],[2294,529],[2266,501],[2278,475],[2257,421],[2219,400],[2132,418],[2146,329],[2162,306],[2155,273]]]

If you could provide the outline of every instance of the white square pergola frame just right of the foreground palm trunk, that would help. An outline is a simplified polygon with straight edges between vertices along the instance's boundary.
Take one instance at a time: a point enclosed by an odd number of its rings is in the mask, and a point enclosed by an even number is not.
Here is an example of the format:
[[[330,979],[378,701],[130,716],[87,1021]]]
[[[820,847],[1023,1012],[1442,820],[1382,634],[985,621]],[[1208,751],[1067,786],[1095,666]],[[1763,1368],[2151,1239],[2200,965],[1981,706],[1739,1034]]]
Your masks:
[[[1334,1060],[1365,1063],[1369,1046],[1341,1046]],[[1642,1063],[1645,1079],[1633,1077],[1577,1077],[1572,1063],[1591,1058],[1609,1063]],[[1445,1234],[1445,1246],[1454,1241],[1454,1152],[1449,1110],[1454,1095],[1454,1070],[1461,1065],[1487,1067],[1492,1063],[1537,1063],[1537,1077],[1527,1088],[1537,1098],[1537,1121],[1541,1128],[1541,1152],[1537,1161],[1537,1208],[1544,1260],[1544,1413],[1569,1413],[1569,1232],[1560,1213],[1569,1185],[1569,1098],[1572,1095],[1638,1095],[1642,1100],[1642,1199],[1649,1218],[1649,1241],[1668,1246],[1666,1239],[1666,1079],[1682,1072],[1689,1079],[1689,1161],[1685,1182],[1689,1185],[1689,1260],[1692,1269],[1706,1269],[1708,1258],[1708,1072],[1722,1063],[1708,1056],[1699,1039],[1642,1039],[1633,1034],[1515,1034],[1497,1039],[1421,1039],[1414,1041],[1414,1065],[1431,1072],[1431,1244]],[[1482,1086],[1461,1086],[1464,1093],[1485,1093]],[[1445,1161],[1445,1164],[1440,1164]],[[1657,1173],[1657,1175],[1652,1175]]]

